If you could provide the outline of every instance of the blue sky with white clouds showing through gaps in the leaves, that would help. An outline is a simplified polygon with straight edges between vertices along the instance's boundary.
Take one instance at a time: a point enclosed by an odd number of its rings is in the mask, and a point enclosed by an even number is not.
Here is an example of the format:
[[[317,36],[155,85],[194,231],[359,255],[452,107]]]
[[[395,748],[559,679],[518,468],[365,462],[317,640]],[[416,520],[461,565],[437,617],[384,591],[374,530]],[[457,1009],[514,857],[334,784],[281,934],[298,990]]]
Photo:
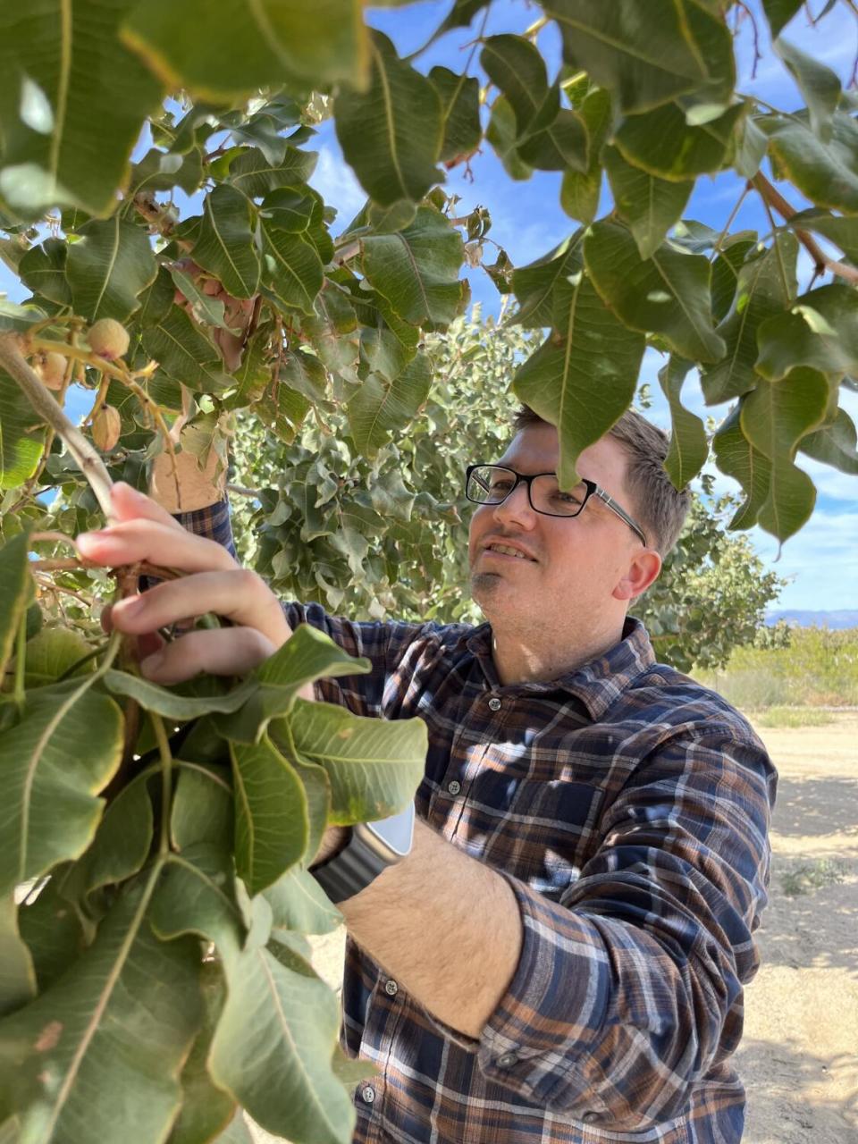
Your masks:
[[[815,10],[819,10],[821,6],[823,0],[813,0]],[[376,9],[368,13],[368,19],[376,27],[388,32],[400,54],[405,54],[416,50],[428,40],[448,7],[448,3],[427,0],[397,10]],[[749,21],[746,19],[739,37],[739,90],[760,95],[787,110],[797,108],[802,104],[802,100],[789,74],[769,48],[768,25],[760,14],[757,0],[752,0],[752,7],[757,13],[764,59],[757,67],[756,79],[752,80],[752,29]],[[494,0],[486,32],[487,34],[505,31],[521,32],[533,23],[539,14],[539,8],[524,0],[518,2]],[[476,26],[478,21],[475,22],[475,29]],[[847,10],[845,5],[840,5],[817,27],[810,26],[804,11],[800,11],[786,29],[785,35],[804,51],[825,61],[845,82],[856,54],[857,29],[858,23]],[[428,71],[435,64],[461,69],[471,51],[469,41],[474,34],[475,31],[468,29],[450,33],[423,53],[416,66],[422,71]],[[540,34],[539,46],[549,62],[549,69],[556,67],[559,63],[559,46],[551,27],[547,27]],[[478,73],[478,56],[477,47],[470,66],[471,74]],[[310,146],[319,151],[319,162],[311,182],[323,192],[327,202],[337,207],[339,221],[344,225],[363,206],[365,196],[342,161],[332,124],[321,125],[317,138]],[[138,153],[142,150],[145,150],[145,146],[138,148]],[[470,174],[472,180],[467,177],[463,169],[456,168],[450,173],[445,189],[461,196],[462,201],[456,208],[460,214],[466,214],[477,205],[488,208],[493,220],[491,238],[506,248],[514,264],[521,265],[539,257],[575,229],[577,224],[559,206],[559,174],[537,173],[527,182],[513,182],[490,146],[485,146],[482,153],[471,160]],[[732,174],[701,178],[685,216],[720,229],[736,204],[741,185]],[[792,198],[796,207],[803,205],[792,190],[788,190],[787,197]],[[180,193],[177,198],[183,197]],[[610,199],[605,191],[601,213],[609,208]],[[761,233],[770,229],[762,206],[753,194],[745,199],[733,224],[733,229],[745,227],[758,230]],[[491,251],[491,247],[488,249]],[[804,252],[802,255],[800,283],[805,288],[810,280],[811,265]],[[493,261],[491,253],[488,261]],[[482,303],[484,312],[496,312],[500,297],[487,275],[476,269],[468,272],[468,278],[474,301]],[[2,264],[0,264],[0,289],[7,291],[9,296],[16,300],[25,294]],[[657,353],[648,352],[641,380],[651,382],[653,405],[648,415],[657,423],[669,428],[667,405],[661,398],[656,376],[661,364]],[[699,388],[692,379],[686,383],[683,398],[690,408],[702,416],[712,414],[720,420],[728,408],[717,406],[714,410],[706,410]],[[858,395],[847,395],[843,404],[858,421]],[[777,606],[858,609],[858,588],[856,588],[858,480],[801,454],[799,463],[812,476],[818,488],[817,506],[809,523],[784,545],[777,563],[772,563],[778,553],[777,541],[758,529],[754,529],[750,533],[754,546],[763,559],[781,577],[789,579]],[[717,474],[716,488],[738,491],[734,482],[721,474]]]

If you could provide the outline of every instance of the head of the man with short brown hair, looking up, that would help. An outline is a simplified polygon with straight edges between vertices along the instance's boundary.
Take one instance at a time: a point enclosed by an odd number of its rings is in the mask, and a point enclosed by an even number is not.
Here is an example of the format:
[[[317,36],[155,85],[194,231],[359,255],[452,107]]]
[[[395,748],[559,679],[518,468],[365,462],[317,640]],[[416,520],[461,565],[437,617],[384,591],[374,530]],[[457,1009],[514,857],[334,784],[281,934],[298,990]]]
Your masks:
[[[557,430],[526,407],[515,430],[496,463],[525,476],[554,472]],[[630,602],[659,574],[661,555],[688,513],[689,493],[677,492],[664,469],[667,448],[666,434],[629,411],[577,466],[641,526],[645,546],[598,495],[590,495],[578,516],[547,516],[533,509],[521,482],[502,503],[475,508],[471,586],[495,634],[535,635],[542,628],[546,638],[556,633],[583,646],[593,633],[609,637],[621,629]]]

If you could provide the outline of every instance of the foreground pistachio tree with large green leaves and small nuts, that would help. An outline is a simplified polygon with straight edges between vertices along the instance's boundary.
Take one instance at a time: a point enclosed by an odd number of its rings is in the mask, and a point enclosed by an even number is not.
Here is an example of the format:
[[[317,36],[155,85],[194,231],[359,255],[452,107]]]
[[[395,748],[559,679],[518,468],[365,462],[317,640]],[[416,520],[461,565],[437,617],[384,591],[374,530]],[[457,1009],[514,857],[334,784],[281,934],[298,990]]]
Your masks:
[[[802,526],[800,452],[858,469],[840,402],[858,353],[858,127],[853,95],[781,34],[801,7],[546,0],[490,34],[491,0],[454,0],[430,42],[470,27],[458,67],[402,55],[359,0],[0,8],[0,254],[30,295],[0,303],[3,1142],[237,1141],[240,1109],[296,1144],[348,1141],[371,1066],[336,1047],[308,960],[304,935],[337,916],[307,866],[327,824],[392,813],[422,771],[419,722],[299,698],[366,669],[310,630],[245,678],[142,680],[93,599],[175,570],[102,572],[69,548],[110,519],[112,480],[158,472],[182,509],[186,459],[222,479],[239,411],[286,443],[315,419],[336,423],[364,507],[404,517],[407,495],[362,464],[414,431],[426,335],[463,313],[462,268],[480,263],[535,337],[513,388],[557,424],[563,484],[631,402],[648,345],[667,357],[668,471],[685,485],[707,454],[683,405],[699,374],[716,463],[744,491],[734,527]],[[801,110],[737,90],[748,10]],[[367,196],[351,220],[309,183],[327,117]],[[527,265],[445,192],[480,148],[513,180],[561,173],[569,231]],[[725,169],[764,202],[765,233],[683,217]],[[311,532],[334,470],[308,452],[289,495]],[[372,519],[326,540],[349,575],[392,585]],[[277,574],[300,561],[269,556]]]

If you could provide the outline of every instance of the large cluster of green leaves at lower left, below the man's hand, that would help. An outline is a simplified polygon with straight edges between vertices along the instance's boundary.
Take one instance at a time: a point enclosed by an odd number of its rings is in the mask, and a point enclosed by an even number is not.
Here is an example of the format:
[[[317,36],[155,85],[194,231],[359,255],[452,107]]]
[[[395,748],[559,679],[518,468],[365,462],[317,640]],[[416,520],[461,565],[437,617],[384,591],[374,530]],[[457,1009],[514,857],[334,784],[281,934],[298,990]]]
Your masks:
[[[301,698],[368,670],[308,626],[243,681],[166,690],[67,629],[27,638],[29,537],[0,550],[0,1125],[10,1139],[345,1144],[335,994],[305,935],[328,825],[403,810],[419,720]],[[98,1093],[97,1099],[93,1094]]]

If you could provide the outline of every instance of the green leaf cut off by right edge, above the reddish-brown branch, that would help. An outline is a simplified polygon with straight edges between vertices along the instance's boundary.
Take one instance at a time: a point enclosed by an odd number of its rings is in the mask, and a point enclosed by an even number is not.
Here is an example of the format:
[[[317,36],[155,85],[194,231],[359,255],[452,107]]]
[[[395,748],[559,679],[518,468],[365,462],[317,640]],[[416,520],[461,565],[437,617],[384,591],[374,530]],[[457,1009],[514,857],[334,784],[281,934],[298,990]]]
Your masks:
[[[858,125],[843,111],[834,113],[832,137],[818,138],[796,116],[761,116],[769,151],[782,176],[818,207],[858,214]]]

